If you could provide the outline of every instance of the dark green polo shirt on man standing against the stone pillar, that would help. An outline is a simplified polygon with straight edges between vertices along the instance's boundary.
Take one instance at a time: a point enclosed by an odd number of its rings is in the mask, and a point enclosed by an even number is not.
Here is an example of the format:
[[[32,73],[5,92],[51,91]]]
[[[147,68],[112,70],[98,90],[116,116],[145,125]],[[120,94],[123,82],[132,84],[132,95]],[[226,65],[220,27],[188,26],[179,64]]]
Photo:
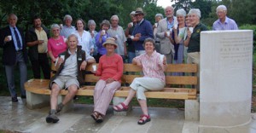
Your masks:
[[[200,33],[202,31],[208,31],[207,26],[201,23],[195,26],[189,40],[188,53],[200,52]]]

